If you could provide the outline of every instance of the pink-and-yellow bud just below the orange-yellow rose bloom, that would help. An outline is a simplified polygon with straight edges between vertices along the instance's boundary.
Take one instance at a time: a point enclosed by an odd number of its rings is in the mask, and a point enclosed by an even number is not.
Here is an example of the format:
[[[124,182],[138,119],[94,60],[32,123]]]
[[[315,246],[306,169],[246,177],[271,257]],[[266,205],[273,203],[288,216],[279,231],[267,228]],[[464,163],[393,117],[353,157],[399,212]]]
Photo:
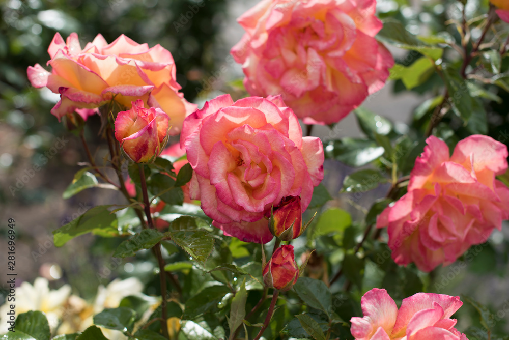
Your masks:
[[[155,159],[166,144],[168,115],[160,108],[145,108],[142,100],[131,102],[115,120],[115,137],[125,154],[136,163]]]

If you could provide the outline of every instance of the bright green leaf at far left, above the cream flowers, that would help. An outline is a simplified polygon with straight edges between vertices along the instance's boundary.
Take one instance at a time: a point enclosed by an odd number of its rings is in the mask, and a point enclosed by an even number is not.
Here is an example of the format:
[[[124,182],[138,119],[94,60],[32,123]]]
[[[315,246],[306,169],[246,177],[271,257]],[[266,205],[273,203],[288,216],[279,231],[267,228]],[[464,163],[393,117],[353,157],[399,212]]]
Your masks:
[[[55,246],[83,234],[92,233],[102,237],[115,237],[123,233],[117,228],[117,216],[108,210],[110,206],[97,206],[87,210],[75,220],[53,231]]]

